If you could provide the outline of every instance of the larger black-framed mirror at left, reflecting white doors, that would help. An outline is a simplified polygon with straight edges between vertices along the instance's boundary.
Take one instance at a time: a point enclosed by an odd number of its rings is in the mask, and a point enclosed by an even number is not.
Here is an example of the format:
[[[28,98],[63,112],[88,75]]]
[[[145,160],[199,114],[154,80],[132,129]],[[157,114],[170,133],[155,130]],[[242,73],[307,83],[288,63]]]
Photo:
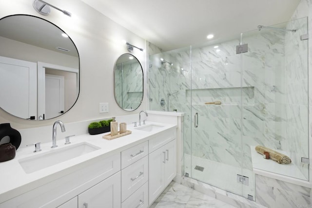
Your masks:
[[[30,15],[0,19],[0,108],[24,119],[55,118],[79,95],[79,55],[55,24]]]

